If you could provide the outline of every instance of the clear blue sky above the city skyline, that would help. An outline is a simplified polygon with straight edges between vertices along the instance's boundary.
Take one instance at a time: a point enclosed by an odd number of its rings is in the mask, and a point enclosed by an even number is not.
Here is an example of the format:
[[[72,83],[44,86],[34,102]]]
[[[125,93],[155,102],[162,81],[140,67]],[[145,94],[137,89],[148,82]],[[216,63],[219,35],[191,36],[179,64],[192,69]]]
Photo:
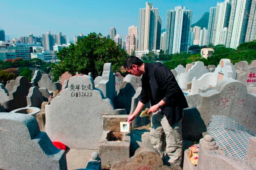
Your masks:
[[[0,28],[10,38],[19,38],[33,33],[74,35],[82,32],[110,33],[115,27],[117,34],[125,38],[128,27],[139,25],[139,9],[146,2],[158,8],[162,19],[162,29],[166,26],[167,10],[175,6],[185,6],[193,10],[192,24],[197,22],[210,7],[217,6],[218,0],[0,0]]]

